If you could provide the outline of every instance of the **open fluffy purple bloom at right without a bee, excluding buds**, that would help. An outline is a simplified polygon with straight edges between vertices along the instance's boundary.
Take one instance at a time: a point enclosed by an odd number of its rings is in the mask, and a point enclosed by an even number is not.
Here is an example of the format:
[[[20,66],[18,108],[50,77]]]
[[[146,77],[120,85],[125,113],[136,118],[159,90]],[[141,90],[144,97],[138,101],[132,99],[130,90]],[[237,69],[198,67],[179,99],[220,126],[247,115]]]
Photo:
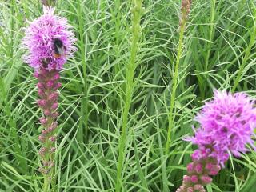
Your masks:
[[[254,147],[256,110],[246,94],[215,90],[214,100],[206,102],[196,120],[201,128],[191,139],[199,147],[194,158],[210,156],[223,166],[229,158],[228,151],[239,156],[247,151],[246,144]]]

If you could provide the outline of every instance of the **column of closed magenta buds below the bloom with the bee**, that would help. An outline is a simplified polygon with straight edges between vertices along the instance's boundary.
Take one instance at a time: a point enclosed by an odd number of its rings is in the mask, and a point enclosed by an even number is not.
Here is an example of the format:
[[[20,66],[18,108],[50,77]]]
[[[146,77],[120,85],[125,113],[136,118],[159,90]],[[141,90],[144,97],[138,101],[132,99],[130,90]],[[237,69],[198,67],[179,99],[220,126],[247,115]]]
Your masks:
[[[58,88],[61,83],[58,82],[60,76],[58,70],[47,70],[41,68],[34,74],[38,78],[38,106],[42,109],[43,117],[40,118],[40,123],[43,127],[42,133],[38,136],[42,147],[39,154],[42,157],[42,165],[39,170],[42,174],[48,174],[54,166],[52,157],[55,152],[54,142],[56,141],[55,132],[58,126],[56,119],[58,118]]]

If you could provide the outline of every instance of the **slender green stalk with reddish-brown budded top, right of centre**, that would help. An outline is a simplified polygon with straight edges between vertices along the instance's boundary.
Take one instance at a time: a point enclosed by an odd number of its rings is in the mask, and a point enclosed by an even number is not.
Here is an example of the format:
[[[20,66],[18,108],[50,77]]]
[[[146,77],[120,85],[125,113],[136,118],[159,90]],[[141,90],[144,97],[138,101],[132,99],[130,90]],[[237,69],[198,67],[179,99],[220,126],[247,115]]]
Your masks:
[[[179,70],[179,63],[182,58],[182,44],[184,38],[184,32],[186,30],[186,22],[188,19],[188,15],[190,14],[190,7],[191,7],[192,0],[182,0],[182,7],[181,7],[181,18],[179,22],[180,30],[179,30],[179,39],[178,39],[178,53],[176,58],[176,63],[174,66],[174,77],[173,77],[173,84],[171,89],[171,96],[170,96],[170,112],[168,116],[168,132],[167,132],[167,142],[166,142],[166,154],[169,152],[170,148],[170,141],[171,141],[171,131],[174,127],[174,103],[176,97],[176,90],[178,86],[178,70]]]

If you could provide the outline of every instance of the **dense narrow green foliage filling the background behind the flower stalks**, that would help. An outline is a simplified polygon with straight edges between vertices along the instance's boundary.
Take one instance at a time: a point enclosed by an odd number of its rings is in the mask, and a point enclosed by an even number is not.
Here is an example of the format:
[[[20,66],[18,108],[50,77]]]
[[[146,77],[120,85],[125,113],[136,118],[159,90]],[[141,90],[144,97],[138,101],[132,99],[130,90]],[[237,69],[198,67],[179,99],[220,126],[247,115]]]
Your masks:
[[[193,1],[182,43],[166,154],[170,95],[179,39],[179,0],[144,0],[127,119],[122,191],[168,191],[182,182],[194,146],[182,140],[213,89],[256,95],[254,0]],[[56,13],[74,26],[78,51],[62,71],[56,175],[58,191],[114,191],[118,142],[126,107],[132,1],[59,0]],[[41,191],[38,172],[37,89],[22,62],[26,20],[42,14],[39,1],[0,0],[0,191]],[[166,176],[166,177],[165,177]],[[167,181],[166,181],[167,180]],[[207,186],[254,192],[256,153],[232,158]],[[164,191],[166,192],[166,191]]]

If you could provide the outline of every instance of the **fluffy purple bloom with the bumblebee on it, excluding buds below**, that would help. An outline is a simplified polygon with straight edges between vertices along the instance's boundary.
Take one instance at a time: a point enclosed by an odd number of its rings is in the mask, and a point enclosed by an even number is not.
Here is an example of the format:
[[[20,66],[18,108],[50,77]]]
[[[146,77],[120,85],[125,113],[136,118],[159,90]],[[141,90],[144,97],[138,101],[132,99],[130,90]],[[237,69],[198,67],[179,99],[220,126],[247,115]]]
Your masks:
[[[29,50],[24,61],[35,70],[62,70],[66,59],[76,50],[74,33],[66,18],[54,15],[54,8],[43,8],[44,14],[25,29],[22,45]],[[35,74],[38,76],[38,74]],[[37,77],[38,78],[38,77]],[[58,75],[55,77],[58,78]]]

